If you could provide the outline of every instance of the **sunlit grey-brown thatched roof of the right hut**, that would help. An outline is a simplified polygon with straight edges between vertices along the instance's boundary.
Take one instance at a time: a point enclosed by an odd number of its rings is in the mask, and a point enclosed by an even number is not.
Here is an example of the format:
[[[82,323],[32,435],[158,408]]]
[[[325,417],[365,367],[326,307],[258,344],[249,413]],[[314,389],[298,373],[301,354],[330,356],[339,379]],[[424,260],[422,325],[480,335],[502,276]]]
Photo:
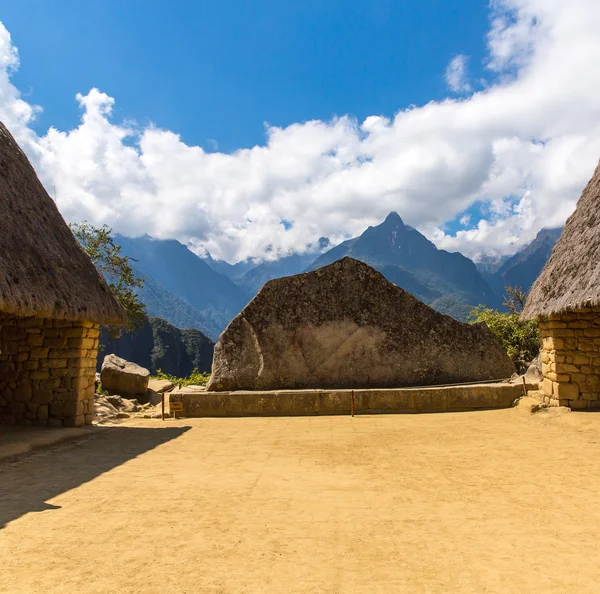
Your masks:
[[[536,280],[521,319],[600,304],[600,164]]]

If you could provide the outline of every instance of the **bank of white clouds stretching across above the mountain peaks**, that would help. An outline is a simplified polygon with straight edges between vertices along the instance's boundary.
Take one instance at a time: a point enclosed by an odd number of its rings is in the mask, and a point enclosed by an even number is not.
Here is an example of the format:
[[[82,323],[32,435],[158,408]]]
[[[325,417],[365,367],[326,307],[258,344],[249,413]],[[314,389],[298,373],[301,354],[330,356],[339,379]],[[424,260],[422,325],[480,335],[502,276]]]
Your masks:
[[[76,128],[35,134],[39,108],[11,81],[18,54],[2,27],[0,119],[68,220],[236,260],[340,241],[397,210],[440,247],[509,253],[564,222],[600,157],[599,26],[597,0],[494,0],[485,90],[390,118],[268,127],[263,146],[231,154],[115,122],[97,89],[77,96]],[[441,230],[476,201],[484,220]]]

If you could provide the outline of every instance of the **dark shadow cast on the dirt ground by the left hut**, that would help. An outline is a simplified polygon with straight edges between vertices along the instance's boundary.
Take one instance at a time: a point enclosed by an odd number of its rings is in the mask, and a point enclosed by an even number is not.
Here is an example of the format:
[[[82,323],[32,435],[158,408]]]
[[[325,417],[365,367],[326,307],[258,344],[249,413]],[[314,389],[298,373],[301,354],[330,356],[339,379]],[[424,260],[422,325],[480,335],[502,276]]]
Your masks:
[[[0,530],[29,512],[60,509],[49,499],[183,435],[191,427],[97,427],[92,434],[0,462]],[[28,476],[23,496],[13,486]]]

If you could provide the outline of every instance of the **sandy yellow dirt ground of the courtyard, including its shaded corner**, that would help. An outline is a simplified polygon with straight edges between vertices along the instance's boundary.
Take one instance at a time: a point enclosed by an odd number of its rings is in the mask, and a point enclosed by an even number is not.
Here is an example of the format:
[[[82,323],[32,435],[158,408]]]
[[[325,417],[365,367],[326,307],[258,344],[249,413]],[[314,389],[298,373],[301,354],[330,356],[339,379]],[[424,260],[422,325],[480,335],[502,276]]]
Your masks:
[[[590,592],[600,414],[139,420],[0,463],[0,592]]]

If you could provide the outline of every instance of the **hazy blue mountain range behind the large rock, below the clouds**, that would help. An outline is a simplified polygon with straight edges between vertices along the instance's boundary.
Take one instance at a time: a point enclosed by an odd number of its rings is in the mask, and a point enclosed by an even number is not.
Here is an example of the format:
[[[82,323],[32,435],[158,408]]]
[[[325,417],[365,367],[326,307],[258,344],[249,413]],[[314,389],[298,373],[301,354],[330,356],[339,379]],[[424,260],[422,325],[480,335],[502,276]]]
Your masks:
[[[478,265],[460,253],[438,249],[396,212],[331,249],[323,238],[306,253],[265,262],[230,264],[210,254],[201,258],[176,240],[148,235],[117,235],[115,241],[145,279],[140,297],[148,315],[179,328],[197,328],[216,340],[268,280],[314,270],[344,256],[366,262],[434,309],[465,320],[476,305],[500,308],[507,285],[528,289],[561,231],[543,229],[511,258]]]

